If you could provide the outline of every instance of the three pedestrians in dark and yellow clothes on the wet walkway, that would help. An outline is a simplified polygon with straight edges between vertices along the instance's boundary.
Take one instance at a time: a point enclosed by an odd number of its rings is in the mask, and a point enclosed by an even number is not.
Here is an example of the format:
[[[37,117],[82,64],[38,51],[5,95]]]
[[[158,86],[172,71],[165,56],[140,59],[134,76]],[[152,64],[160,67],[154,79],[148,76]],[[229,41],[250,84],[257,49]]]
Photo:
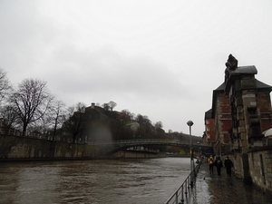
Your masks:
[[[212,155],[210,155],[208,159],[208,163],[209,163],[210,174],[213,174],[213,166],[215,166],[217,168],[218,175],[221,175],[221,168],[223,167],[223,162],[220,159],[220,157],[216,157],[216,159],[214,160]],[[228,157],[226,157],[226,160],[224,161],[224,166],[226,167],[228,176],[231,176],[231,168],[234,166],[233,166],[233,162],[229,160]]]

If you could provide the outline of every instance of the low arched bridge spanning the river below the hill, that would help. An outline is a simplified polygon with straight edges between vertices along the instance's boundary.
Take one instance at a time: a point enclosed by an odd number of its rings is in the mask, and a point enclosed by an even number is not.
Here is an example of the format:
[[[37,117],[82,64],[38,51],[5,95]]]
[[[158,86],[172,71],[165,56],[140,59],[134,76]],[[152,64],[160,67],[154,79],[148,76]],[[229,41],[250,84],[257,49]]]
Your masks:
[[[141,140],[123,140],[123,141],[98,141],[92,143],[99,147],[102,155],[111,155],[116,151],[126,150],[131,147],[148,147],[153,145],[161,145],[161,146],[174,146],[174,147],[182,147],[185,149],[190,149],[189,141],[179,141],[179,140],[159,140],[159,139],[141,139]],[[212,152],[212,147],[205,146],[201,144],[192,143],[193,151],[201,151],[204,152]]]

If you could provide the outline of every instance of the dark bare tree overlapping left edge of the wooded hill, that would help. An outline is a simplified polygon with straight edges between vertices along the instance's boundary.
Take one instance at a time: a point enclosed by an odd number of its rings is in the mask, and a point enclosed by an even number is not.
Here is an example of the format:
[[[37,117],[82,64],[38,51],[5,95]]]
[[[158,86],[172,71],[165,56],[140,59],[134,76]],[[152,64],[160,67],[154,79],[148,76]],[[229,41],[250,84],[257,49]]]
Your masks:
[[[85,107],[83,102],[78,102],[76,105],[70,106],[64,116],[63,128],[73,134],[73,142],[83,132],[86,121]]]

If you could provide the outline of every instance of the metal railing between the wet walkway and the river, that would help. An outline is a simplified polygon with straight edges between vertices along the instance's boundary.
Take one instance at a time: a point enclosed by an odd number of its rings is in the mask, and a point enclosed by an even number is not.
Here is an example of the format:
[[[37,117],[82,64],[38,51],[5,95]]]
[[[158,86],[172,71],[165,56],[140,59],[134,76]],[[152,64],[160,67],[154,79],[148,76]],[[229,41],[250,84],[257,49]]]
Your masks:
[[[189,197],[189,192],[194,188],[193,183],[196,181],[202,160],[199,160],[198,165],[189,173],[189,176],[184,180],[181,186],[170,196],[164,204],[182,204]]]

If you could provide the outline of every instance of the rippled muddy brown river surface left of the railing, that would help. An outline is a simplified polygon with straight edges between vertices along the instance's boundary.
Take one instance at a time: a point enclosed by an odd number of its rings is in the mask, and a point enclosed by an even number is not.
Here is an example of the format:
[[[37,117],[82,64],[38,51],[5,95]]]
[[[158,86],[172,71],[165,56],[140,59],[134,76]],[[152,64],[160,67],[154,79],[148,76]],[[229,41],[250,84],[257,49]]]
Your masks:
[[[0,163],[0,203],[163,203],[188,158]]]

